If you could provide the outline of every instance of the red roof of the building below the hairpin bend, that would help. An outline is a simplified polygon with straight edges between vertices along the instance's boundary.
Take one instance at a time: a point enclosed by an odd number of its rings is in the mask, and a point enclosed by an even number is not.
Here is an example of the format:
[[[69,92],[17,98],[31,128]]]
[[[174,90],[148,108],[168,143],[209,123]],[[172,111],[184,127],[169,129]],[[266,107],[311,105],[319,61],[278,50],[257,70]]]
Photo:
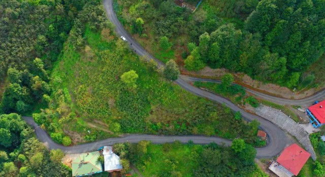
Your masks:
[[[293,144],[286,147],[276,161],[297,176],[309,157],[307,151]]]

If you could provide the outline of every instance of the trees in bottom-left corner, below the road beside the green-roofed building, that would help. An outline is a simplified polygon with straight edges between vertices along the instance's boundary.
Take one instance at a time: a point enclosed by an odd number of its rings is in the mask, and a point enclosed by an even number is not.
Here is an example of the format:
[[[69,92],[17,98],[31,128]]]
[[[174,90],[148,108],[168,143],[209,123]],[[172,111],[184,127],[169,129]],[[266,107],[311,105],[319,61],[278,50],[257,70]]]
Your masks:
[[[61,150],[48,151],[17,114],[0,116],[1,176],[71,176]]]

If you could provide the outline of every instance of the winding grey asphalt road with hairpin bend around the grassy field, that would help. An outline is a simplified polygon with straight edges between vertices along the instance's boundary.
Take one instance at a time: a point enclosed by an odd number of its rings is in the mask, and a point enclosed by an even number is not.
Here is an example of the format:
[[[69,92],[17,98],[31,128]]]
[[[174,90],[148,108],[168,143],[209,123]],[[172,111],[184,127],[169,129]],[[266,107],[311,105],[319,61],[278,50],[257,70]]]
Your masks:
[[[136,50],[136,53],[140,56],[147,56],[148,58],[151,58],[155,60],[158,63],[158,66],[163,66],[164,64],[151,56],[148,52],[146,52],[140,45],[137,43],[131,35],[129,35],[123,26],[120,24],[118,21],[116,14],[114,13],[113,10],[113,1],[112,0],[104,0],[103,1],[105,10],[107,12],[107,15],[109,19],[112,21],[112,23],[115,24],[116,26],[116,32],[121,35],[125,36],[128,40],[129,47],[133,50]],[[217,95],[214,95],[210,92],[203,91],[201,89],[198,89],[197,87],[192,86],[188,82],[186,82],[182,77],[177,79],[175,81],[176,84],[181,86],[183,89],[186,91],[200,96],[207,98],[209,100],[225,104],[229,108],[231,108],[233,111],[240,111],[243,118],[247,121],[252,121],[254,119],[257,119],[261,125],[259,128],[263,129],[264,131],[267,132],[268,134],[268,140],[269,143],[266,147],[263,148],[256,148],[257,154],[256,157],[258,158],[270,158],[273,157],[277,154],[279,154],[283,148],[286,145],[289,145],[294,142],[294,140],[290,137],[287,136],[286,133],[280,129],[278,126],[275,124],[271,123],[270,121],[259,117],[254,114],[247,113],[243,110],[241,110],[239,107],[234,105],[232,102],[229,100],[219,97]],[[174,142],[175,140],[178,140],[182,143],[188,142],[188,140],[192,140],[196,144],[208,144],[211,142],[215,142],[217,144],[225,144],[225,145],[231,145],[231,141],[225,140],[222,138],[218,137],[203,137],[203,136],[154,136],[154,135],[126,135],[122,138],[110,138],[98,142],[92,142],[92,143],[86,143],[86,144],[81,144],[81,145],[75,145],[75,146],[70,146],[70,147],[65,147],[59,144],[56,144],[51,140],[49,135],[45,130],[43,130],[31,117],[23,117],[23,119],[30,124],[32,127],[34,127],[36,135],[38,139],[43,142],[49,149],[61,149],[65,153],[82,153],[82,152],[89,152],[98,149],[101,146],[104,145],[113,145],[115,143],[121,143],[121,142],[131,142],[131,143],[136,143],[141,140],[149,140],[152,141],[153,143],[166,143],[166,142]]]

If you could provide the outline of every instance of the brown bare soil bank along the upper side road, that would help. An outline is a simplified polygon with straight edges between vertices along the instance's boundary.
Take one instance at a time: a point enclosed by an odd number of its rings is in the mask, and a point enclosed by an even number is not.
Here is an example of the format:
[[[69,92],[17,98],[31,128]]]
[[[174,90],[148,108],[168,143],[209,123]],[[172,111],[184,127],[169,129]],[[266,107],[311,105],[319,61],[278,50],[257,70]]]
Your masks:
[[[182,69],[182,74],[199,77],[199,78],[210,78],[210,79],[220,79],[224,74],[229,73],[227,69],[211,69],[210,67],[206,66],[204,69],[200,71],[187,71]],[[294,94],[293,91],[288,89],[287,87],[279,86],[273,83],[263,83],[258,80],[254,80],[246,74],[243,73],[232,73],[235,76],[235,82],[242,86],[248,87],[249,89],[255,90],[260,93],[265,93],[268,95],[281,97],[281,98],[288,98],[288,99],[302,99],[309,97],[320,89],[310,89],[307,91],[300,91]]]

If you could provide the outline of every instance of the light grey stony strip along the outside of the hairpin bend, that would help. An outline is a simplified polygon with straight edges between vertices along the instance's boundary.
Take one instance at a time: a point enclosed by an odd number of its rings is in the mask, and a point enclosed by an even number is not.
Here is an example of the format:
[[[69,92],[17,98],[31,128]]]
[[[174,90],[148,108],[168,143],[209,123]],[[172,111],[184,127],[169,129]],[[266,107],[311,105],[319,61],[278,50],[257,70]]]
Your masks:
[[[316,154],[314,148],[310,143],[308,133],[293,119],[291,119],[278,109],[274,109],[264,105],[261,105],[256,108],[256,114],[270,120],[283,130],[286,130],[290,135],[296,137],[299,143],[301,143],[306,149],[306,151],[310,153],[311,158],[313,160],[316,160]]]

